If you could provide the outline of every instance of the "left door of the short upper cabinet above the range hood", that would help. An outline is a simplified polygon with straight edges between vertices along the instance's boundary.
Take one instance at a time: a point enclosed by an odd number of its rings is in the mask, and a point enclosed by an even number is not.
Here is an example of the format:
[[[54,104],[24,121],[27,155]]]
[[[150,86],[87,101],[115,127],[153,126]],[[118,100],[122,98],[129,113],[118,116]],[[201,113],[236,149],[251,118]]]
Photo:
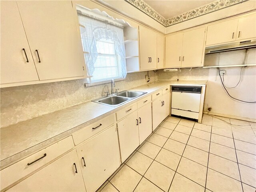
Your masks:
[[[208,26],[206,46],[234,41],[237,23],[238,19],[233,19]]]

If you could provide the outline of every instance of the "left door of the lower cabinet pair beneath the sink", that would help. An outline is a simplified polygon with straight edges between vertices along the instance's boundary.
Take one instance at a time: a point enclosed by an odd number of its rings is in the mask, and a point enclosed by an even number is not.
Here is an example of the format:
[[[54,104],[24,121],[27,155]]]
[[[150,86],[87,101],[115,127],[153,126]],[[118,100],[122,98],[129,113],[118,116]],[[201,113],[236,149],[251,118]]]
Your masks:
[[[117,123],[122,162],[139,146],[138,114],[134,112]]]

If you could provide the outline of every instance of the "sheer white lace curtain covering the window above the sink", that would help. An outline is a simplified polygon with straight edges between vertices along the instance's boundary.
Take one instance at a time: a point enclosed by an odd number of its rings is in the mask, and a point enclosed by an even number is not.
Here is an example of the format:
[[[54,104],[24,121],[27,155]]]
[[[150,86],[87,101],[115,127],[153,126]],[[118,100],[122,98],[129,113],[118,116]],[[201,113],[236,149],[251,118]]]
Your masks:
[[[107,20],[78,12],[82,45],[90,82],[126,77],[123,28]]]

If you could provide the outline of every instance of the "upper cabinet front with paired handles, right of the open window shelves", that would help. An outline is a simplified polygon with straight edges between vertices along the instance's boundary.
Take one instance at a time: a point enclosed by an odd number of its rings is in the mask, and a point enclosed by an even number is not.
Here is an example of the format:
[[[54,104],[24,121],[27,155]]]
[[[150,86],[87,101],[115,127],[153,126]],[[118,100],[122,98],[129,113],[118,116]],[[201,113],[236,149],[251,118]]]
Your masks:
[[[156,32],[139,26],[140,70],[156,69],[157,37]]]

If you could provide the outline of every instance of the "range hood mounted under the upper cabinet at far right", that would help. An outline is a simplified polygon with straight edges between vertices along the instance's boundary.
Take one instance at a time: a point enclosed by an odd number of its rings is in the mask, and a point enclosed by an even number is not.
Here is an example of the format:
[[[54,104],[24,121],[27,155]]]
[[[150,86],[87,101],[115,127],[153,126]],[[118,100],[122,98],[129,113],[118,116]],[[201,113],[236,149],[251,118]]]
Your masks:
[[[237,50],[252,49],[252,48],[256,48],[256,41],[247,40],[247,41],[236,42],[236,44],[231,44],[231,45],[222,44],[214,48],[212,47],[206,48],[205,54],[222,53],[222,52],[237,51]]]

